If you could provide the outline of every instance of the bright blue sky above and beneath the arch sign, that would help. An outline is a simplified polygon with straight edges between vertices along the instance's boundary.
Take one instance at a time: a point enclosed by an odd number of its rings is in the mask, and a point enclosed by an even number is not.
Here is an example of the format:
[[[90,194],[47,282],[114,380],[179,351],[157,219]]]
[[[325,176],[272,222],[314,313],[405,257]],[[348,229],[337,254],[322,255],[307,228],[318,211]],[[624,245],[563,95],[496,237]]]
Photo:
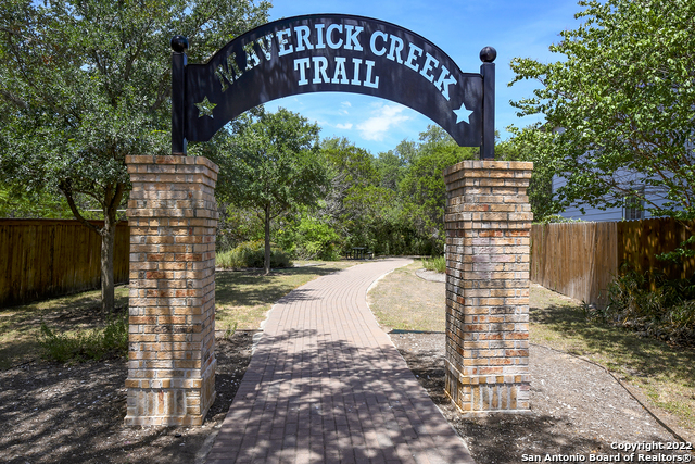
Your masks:
[[[275,0],[270,20],[313,13],[344,13],[375,17],[410,29],[447,53],[464,72],[480,71],[480,50],[497,50],[496,121],[502,138],[507,126],[526,126],[536,120],[519,118],[509,100],[530,97],[535,83],[514,79],[509,62],[515,57],[556,61],[548,47],[559,32],[579,25],[577,0]],[[266,103],[301,113],[321,126],[321,137],[346,137],[372,154],[393,149],[401,140],[417,140],[428,124],[426,116],[389,100],[356,93],[308,93]]]

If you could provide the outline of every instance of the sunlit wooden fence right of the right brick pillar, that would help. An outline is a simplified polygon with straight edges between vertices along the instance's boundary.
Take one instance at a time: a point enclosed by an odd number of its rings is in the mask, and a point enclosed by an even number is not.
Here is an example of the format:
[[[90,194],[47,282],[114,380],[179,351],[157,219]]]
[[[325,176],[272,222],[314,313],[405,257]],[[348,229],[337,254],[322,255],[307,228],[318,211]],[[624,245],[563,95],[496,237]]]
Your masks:
[[[690,226],[695,233],[695,222]],[[674,265],[656,258],[673,251],[691,234],[671,218],[534,224],[531,227],[531,280],[603,306],[608,302],[608,284],[623,264],[640,273],[661,271],[670,278],[692,276],[695,259]]]

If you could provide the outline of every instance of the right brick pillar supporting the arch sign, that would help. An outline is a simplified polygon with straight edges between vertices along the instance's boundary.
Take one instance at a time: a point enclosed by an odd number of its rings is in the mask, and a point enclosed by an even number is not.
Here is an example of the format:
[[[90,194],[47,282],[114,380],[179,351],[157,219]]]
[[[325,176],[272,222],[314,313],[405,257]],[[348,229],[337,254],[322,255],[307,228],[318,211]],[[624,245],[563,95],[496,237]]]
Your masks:
[[[446,386],[468,414],[529,411],[533,163],[464,161],[446,181]]]

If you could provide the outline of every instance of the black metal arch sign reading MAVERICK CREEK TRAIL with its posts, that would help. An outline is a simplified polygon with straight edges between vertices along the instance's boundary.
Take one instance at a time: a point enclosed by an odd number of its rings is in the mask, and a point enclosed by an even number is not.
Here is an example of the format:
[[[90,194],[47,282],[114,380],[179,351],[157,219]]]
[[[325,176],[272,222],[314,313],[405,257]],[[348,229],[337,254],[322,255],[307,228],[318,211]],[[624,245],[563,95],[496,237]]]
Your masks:
[[[278,98],[363,93],[428,116],[459,146],[494,152],[494,49],[480,73],[463,73],[424,37],[379,20],[316,14],[275,21],[233,39],[205,64],[187,65],[172,40],[172,149],[210,140],[233,117]],[[486,52],[486,53],[485,53]]]

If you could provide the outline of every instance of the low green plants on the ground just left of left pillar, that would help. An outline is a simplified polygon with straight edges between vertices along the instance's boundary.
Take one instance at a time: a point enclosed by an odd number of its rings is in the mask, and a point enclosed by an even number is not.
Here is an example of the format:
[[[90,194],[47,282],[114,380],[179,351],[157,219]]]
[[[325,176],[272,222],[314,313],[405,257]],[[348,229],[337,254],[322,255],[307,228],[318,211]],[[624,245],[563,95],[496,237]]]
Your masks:
[[[102,329],[77,330],[72,335],[61,334],[41,322],[39,344],[45,358],[59,363],[126,356],[128,327],[127,312],[111,318]]]

